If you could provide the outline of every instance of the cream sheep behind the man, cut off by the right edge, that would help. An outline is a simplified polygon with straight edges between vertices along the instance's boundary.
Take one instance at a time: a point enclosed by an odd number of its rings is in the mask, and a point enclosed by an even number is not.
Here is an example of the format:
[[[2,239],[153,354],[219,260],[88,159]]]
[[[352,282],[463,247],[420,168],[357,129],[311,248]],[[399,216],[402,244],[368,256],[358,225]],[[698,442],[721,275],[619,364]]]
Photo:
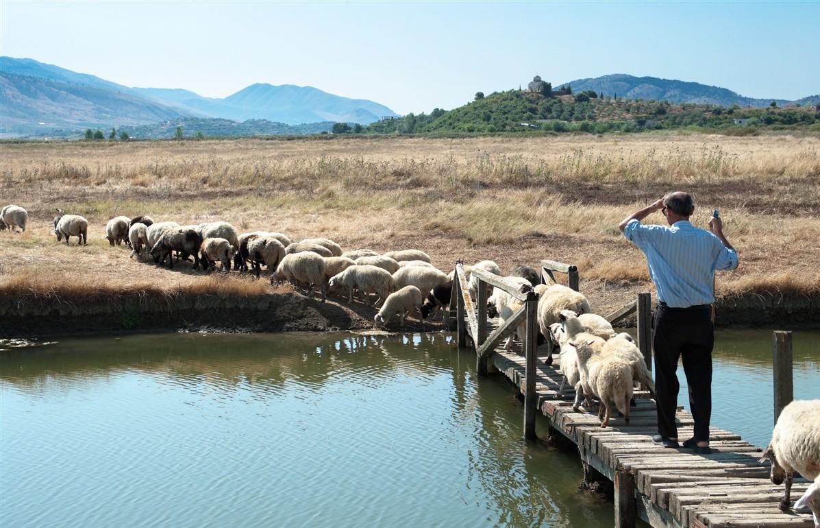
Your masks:
[[[795,400],[783,407],[760,462],[766,460],[772,461],[772,483],[786,481],[786,494],[780,502],[780,509],[786,512],[795,471],[809,480],[820,476],[820,400]]]

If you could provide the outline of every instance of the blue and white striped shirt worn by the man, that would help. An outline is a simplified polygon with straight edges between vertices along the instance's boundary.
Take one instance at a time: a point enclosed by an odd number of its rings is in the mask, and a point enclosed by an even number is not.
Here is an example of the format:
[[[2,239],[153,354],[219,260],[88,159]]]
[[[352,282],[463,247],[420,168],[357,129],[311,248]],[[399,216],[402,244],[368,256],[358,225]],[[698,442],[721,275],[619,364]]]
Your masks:
[[[623,234],[645,253],[658,301],[672,308],[713,302],[715,269],[737,268],[735,251],[686,220],[666,227],[645,226],[633,219]]]

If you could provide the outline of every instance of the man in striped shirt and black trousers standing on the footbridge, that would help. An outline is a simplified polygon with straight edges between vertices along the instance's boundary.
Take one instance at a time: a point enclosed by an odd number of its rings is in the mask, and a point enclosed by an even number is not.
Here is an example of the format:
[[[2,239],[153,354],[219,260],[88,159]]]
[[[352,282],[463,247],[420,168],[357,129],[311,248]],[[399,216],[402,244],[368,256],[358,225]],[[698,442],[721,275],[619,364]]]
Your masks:
[[[654,211],[666,217],[669,227],[640,223]],[[658,295],[652,337],[658,410],[658,434],[654,440],[665,448],[678,447],[675,411],[680,357],[695,419],[695,436],[683,446],[708,453],[712,452],[708,445],[712,415],[713,277],[715,269],[736,269],[737,254],[723,236],[720,218],[709,220],[710,233],[692,226],[689,218],[694,212],[695,202],[690,195],[672,192],[624,218],[618,228],[645,253]]]

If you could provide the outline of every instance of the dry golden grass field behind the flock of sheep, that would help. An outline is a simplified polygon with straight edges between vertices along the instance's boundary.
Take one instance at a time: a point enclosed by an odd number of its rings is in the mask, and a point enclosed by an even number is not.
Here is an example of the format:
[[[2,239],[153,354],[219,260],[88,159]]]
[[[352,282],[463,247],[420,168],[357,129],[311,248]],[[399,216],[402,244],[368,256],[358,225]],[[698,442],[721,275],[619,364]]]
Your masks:
[[[0,232],[0,296],[273,291],[236,273],[157,269],[103,239],[109,218],[148,213],[420,248],[441,269],[561,260],[605,312],[650,287],[617,223],[670,190],[695,195],[696,225],[721,211],[740,269],[719,273],[720,294],[820,290],[820,139],[607,135],[3,143],[0,202],[30,221],[25,234]],[[89,246],[57,244],[58,207],[89,219]]]

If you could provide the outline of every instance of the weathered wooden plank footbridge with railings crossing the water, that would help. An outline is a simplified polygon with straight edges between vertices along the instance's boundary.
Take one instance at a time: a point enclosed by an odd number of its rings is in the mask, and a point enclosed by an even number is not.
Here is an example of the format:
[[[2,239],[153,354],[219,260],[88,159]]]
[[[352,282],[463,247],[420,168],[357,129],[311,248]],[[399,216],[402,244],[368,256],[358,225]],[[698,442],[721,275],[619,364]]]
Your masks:
[[[711,454],[695,454],[686,448],[663,448],[654,443],[657,431],[655,402],[645,391],[635,391],[635,407],[626,425],[623,418],[613,417],[609,427],[601,428],[594,411],[575,412],[572,401],[575,390],[560,391],[563,374],[555,365],[545,365],[551,343],[540,354],[536,346],[538,296],[522,293],[516,284],[508,283],[482,270],[471,273],[480,279],[476,306],[467,295],[467,278],[461,262],[456,264],[450,311],[445,317],[455,318],[458,345],[476,351],[476,370],[486,375],[497,370],[506,376],[524,396],[524,435],[535,439],[535,414],[540,411],[549,420],[552,434],[560,434],[578,448],[586,480],[607,478],[614,484],[615,526],[635,526],[640,517],[655,527],[675,528],[813,528],[811,514],[782,512],[779,503],[784,487],[769,480],[769,465],[758,460],[760,448],[745,442],[731,431],[711,429]],[[570,287],[578,289],[578,273],[574,266],[549,260],[541,263],[544,282],[555,282],[555,273],[566,273]],[[523,301],[520,310],[500,327],[487,319],[487,288],[489,284]],[[453,310],[454,308],[454,310]],[[651,305],[649,293],[641,293],[635,302],[608,315],[617,322],[633,313],[638,319],[638,345],[647,366],[652,368]],[[511,350],[503,350],[503,340],[523,321],[526,336]],[[790,347],[788,349],[790,358]],[[777,376],[777,347],[775,354]],[[790,368],[790,363],[789,363]],[[789,376],[790,379],[790,376]],[[786,383],[783,383],[785,386]],[[790,383],[784,387],[790,392]],[[777,394],[776,390],[776,394]],[[781,397],[776,414],[790,397]],[[777,406],[779,405],[779,408]],[[583,410],[583,409],[582,409]],[[679,409],[676,416],[678,435],[690,438],[694,434],[689,413]],[[795,480],[792,501],[808,488],[806,480]]]

